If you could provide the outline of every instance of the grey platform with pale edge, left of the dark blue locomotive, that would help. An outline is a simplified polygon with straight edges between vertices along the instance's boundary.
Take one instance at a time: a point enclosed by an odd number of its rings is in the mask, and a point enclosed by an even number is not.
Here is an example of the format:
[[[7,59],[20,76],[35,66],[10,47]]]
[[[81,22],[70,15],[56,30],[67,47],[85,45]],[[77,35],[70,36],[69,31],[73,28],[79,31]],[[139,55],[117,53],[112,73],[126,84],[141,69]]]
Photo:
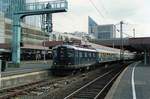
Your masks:
[[[49,77],[52,61],[24,61],[19,68],[7,67],[1,76],[0,89],[41,81]]]

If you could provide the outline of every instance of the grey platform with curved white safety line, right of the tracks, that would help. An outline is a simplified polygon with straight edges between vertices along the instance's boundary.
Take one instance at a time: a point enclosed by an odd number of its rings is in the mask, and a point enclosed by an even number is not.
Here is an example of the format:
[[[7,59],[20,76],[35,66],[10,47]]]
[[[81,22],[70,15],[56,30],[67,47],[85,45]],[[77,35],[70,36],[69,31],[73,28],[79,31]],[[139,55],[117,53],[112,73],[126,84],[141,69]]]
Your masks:
[[[150,99],[150,65],[129,65],[117,78],[105,99]]]

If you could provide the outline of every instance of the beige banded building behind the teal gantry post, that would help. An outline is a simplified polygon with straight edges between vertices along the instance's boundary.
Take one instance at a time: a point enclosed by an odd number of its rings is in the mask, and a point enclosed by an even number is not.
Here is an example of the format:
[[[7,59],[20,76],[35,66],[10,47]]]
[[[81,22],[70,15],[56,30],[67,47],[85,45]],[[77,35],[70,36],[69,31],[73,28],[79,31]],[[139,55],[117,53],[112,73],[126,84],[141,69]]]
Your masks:
[[[49,48],[43,45],[44,41],[49,40],[49,34],[41,31],[40,28],[25,23],[21,23],[21,54],[42,54]],[[0,13],[0,50],[5,59],[11,60],[11,42],[12,42],[12,20]],[[32,60],[32,59],[31,59]]]

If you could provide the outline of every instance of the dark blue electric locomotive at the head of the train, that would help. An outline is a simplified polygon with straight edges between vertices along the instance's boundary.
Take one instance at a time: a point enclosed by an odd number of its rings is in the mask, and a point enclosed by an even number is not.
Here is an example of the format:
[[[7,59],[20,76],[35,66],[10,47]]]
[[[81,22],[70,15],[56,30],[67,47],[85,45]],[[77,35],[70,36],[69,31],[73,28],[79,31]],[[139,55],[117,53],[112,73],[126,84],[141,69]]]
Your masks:
[[[60,45],[53,48],[52,69],[70,71],[80,68],[88,68],[98,62],[98,52],[95,49],[75,47],[72,45]]]

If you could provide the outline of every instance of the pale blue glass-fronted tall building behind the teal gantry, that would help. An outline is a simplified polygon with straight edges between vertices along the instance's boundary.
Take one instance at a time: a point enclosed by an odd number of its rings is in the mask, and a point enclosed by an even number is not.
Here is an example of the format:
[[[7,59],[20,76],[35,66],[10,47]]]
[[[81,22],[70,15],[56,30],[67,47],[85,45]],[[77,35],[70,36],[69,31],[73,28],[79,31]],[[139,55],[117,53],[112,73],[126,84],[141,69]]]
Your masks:
[[[40,2],[42,0],[0,0],[0,12],[4,13],[5,18],[12,19],[14,6],[19,3],[20,7],[23,7],[26,3]],[[26,16],[23,21],[31,26],[41,28],[41,16]]]

